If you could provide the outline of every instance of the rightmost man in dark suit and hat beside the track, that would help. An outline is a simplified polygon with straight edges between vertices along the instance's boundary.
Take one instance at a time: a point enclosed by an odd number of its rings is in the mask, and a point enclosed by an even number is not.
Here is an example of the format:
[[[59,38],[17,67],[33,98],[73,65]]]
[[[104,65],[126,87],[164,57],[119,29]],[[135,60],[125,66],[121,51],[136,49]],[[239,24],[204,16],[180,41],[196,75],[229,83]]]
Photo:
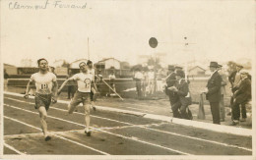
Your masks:
[[[246,108],[245,104],[251,99],[251,80],[249,80],[247,73],[242,72],[241,80],[238,83],[238,87],[233,94],[233,105],[232,105],[232,125],[237,125],[240,118],[240,108],[242,109],[242,120],[246,119]]]

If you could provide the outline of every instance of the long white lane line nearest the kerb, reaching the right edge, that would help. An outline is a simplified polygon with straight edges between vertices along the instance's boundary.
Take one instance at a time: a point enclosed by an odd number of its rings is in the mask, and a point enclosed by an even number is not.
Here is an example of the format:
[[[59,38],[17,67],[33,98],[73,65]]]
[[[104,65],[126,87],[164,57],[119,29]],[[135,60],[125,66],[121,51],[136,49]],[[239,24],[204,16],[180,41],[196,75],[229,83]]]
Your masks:
[[[16,99],[13,99],[16,100]],[[20,101],[20,100],[19,100]],[[20,102],[24,102],[24,103],[28,103],[26,101],[20,101]],[[33,103],[32,103],[33,104]],[[66,112],[66,110],[63,109],[59,109],[59,108],[55,108],[55,107],[51,107],[53,109],[57,109],[63,112]],[[79,114],[79,115],[85,115],[83,113],[78,113],[78,112],[74,112],[74,114]],[[104,119],[104,120],[108,120],[108,121],[114,121],[114,122],[118,122],[118,123],[123,123],[126,125],[129,125],[129,127],[137,127],[137,128],[141,128],[141,129],[146,129],[146,130],[151,130],[154,132],[158,132],[158,133],[167,133],[167,134],[172,134],[172,135],[177,135],[177,136],[182,136],[182,137],[186,137],[186,138],[191,138],[191,139],[195,139],[195,140],[200,140],[200,141],[205,141],[205,142],[210,142],[210,143],[215,143],[215,144],[219,144],[219,145],[223,145],[223,146],[228,146],[228,147],[234,147],[234,148],[238,148],[238,149],[243,149],[243,150],[247,150],[247,151],[252,151],[252,149],[250,148],[246,148],[246,147],[240,147],[240,146],[236,146],[236,145],[231,145],[231,144],[227,144],[227,143],[223,143],[223,142],[218,142],[218,141],[214,141],[214,140],[208,140],[208,139],[204,139],[204,138],[199,138],[199,137],[194,137],[194,136],[189,136],[189,135],[184,135],[184,134],[179,134],[179,133],[172,133],[172,132],[164,132],[164,131],[160,131],[157,129],[152,129],[147,127],[148,125],[135,125],[135,124],[131,124],[131,123],[125,123],[125,122],[120,122],[120,121],[116,121],[116,120],[112,120],[112,119],[107,119],[107,118],[101,118],[101,117],[97,117],[99,119]],[[128,127],[127,127],[128,128]],[[117,128],[118,129],[118,128]],[[121,129],[121,128],[120,128]]]

